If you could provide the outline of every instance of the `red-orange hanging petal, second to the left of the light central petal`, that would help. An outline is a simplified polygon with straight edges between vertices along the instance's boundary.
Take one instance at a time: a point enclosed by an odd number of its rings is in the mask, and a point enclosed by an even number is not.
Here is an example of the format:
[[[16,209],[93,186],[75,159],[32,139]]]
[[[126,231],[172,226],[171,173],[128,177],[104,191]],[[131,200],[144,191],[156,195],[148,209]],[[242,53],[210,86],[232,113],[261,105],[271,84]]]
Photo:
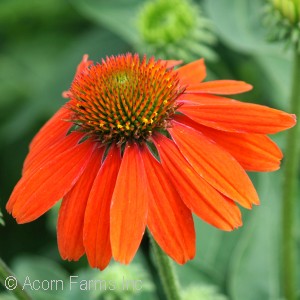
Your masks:
[[[97,148],[74,187],[64,196],[58,215],[57,242],[63,259],[78,260],[84,254],[83,220],[87,199],[101,165],[104,148]]]

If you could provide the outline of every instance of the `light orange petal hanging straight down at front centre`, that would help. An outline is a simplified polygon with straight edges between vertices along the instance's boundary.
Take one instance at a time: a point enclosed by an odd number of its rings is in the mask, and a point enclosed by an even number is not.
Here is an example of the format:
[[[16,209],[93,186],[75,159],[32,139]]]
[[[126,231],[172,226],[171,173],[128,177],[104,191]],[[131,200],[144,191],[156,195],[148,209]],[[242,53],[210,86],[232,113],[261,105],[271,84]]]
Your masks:
[[[110,241],[115,260],[129,263],[145,231],[148,202],[146,174],[140,149],[127,145],[122,158],[110,216]]]

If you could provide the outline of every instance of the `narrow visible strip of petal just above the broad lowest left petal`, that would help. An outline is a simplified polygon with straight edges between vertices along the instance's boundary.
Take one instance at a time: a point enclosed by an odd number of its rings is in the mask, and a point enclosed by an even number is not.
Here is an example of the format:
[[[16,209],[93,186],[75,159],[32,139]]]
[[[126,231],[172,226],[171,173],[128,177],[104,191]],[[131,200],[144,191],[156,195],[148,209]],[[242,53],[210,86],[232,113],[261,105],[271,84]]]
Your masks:
[[[49,147],[45,147],[40,151],[30,151],[23,165],[23,175],[26,172],[34,172],[49,160],[74,147],[83,136],[83,133],[72,132],[63,139],[59,139],[57,142],[49,145]]]

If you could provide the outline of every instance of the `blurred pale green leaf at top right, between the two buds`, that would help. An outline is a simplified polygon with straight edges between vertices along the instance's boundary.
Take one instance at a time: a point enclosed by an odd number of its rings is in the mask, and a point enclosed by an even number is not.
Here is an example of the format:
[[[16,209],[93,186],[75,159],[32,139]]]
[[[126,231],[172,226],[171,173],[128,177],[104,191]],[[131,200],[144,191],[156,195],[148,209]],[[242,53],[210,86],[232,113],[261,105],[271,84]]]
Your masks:
[[[259,85],[275,99],[276,108],[287,109],[289,97],[291,53],[283,44],[267,41],[267,28],[262,24],[263,0],[208,0],[205,2],[220,39],[231,49],[252,56],[256,63]],[[227,59],[228,62],[228,59]],[[237,62],[233,59],[231,64]],[[245,74],[246,76],[249,73]],[[255,87],[255,86],[254,86]],[[268,99],[269,100],[269,99]]]

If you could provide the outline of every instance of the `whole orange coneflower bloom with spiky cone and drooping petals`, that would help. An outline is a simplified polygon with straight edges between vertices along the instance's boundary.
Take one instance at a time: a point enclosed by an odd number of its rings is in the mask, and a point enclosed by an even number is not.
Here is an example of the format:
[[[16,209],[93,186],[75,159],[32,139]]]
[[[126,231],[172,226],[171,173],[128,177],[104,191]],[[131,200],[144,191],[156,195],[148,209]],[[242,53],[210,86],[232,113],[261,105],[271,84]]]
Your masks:
[[[259,203],[246,171],[279,168],[282,153],[266,134],[295,116],[218,96],[252,87],[202,82],[203,59],[174,70],[179,63],[126,54],[94,65],[84,56],[70,100],[30,144],[7,210],[26,223],[62,198],[64,259],[129,263],[147,227],[182,264],[195,255],[192,213],[232,230],[242,224],[236,204]]]

